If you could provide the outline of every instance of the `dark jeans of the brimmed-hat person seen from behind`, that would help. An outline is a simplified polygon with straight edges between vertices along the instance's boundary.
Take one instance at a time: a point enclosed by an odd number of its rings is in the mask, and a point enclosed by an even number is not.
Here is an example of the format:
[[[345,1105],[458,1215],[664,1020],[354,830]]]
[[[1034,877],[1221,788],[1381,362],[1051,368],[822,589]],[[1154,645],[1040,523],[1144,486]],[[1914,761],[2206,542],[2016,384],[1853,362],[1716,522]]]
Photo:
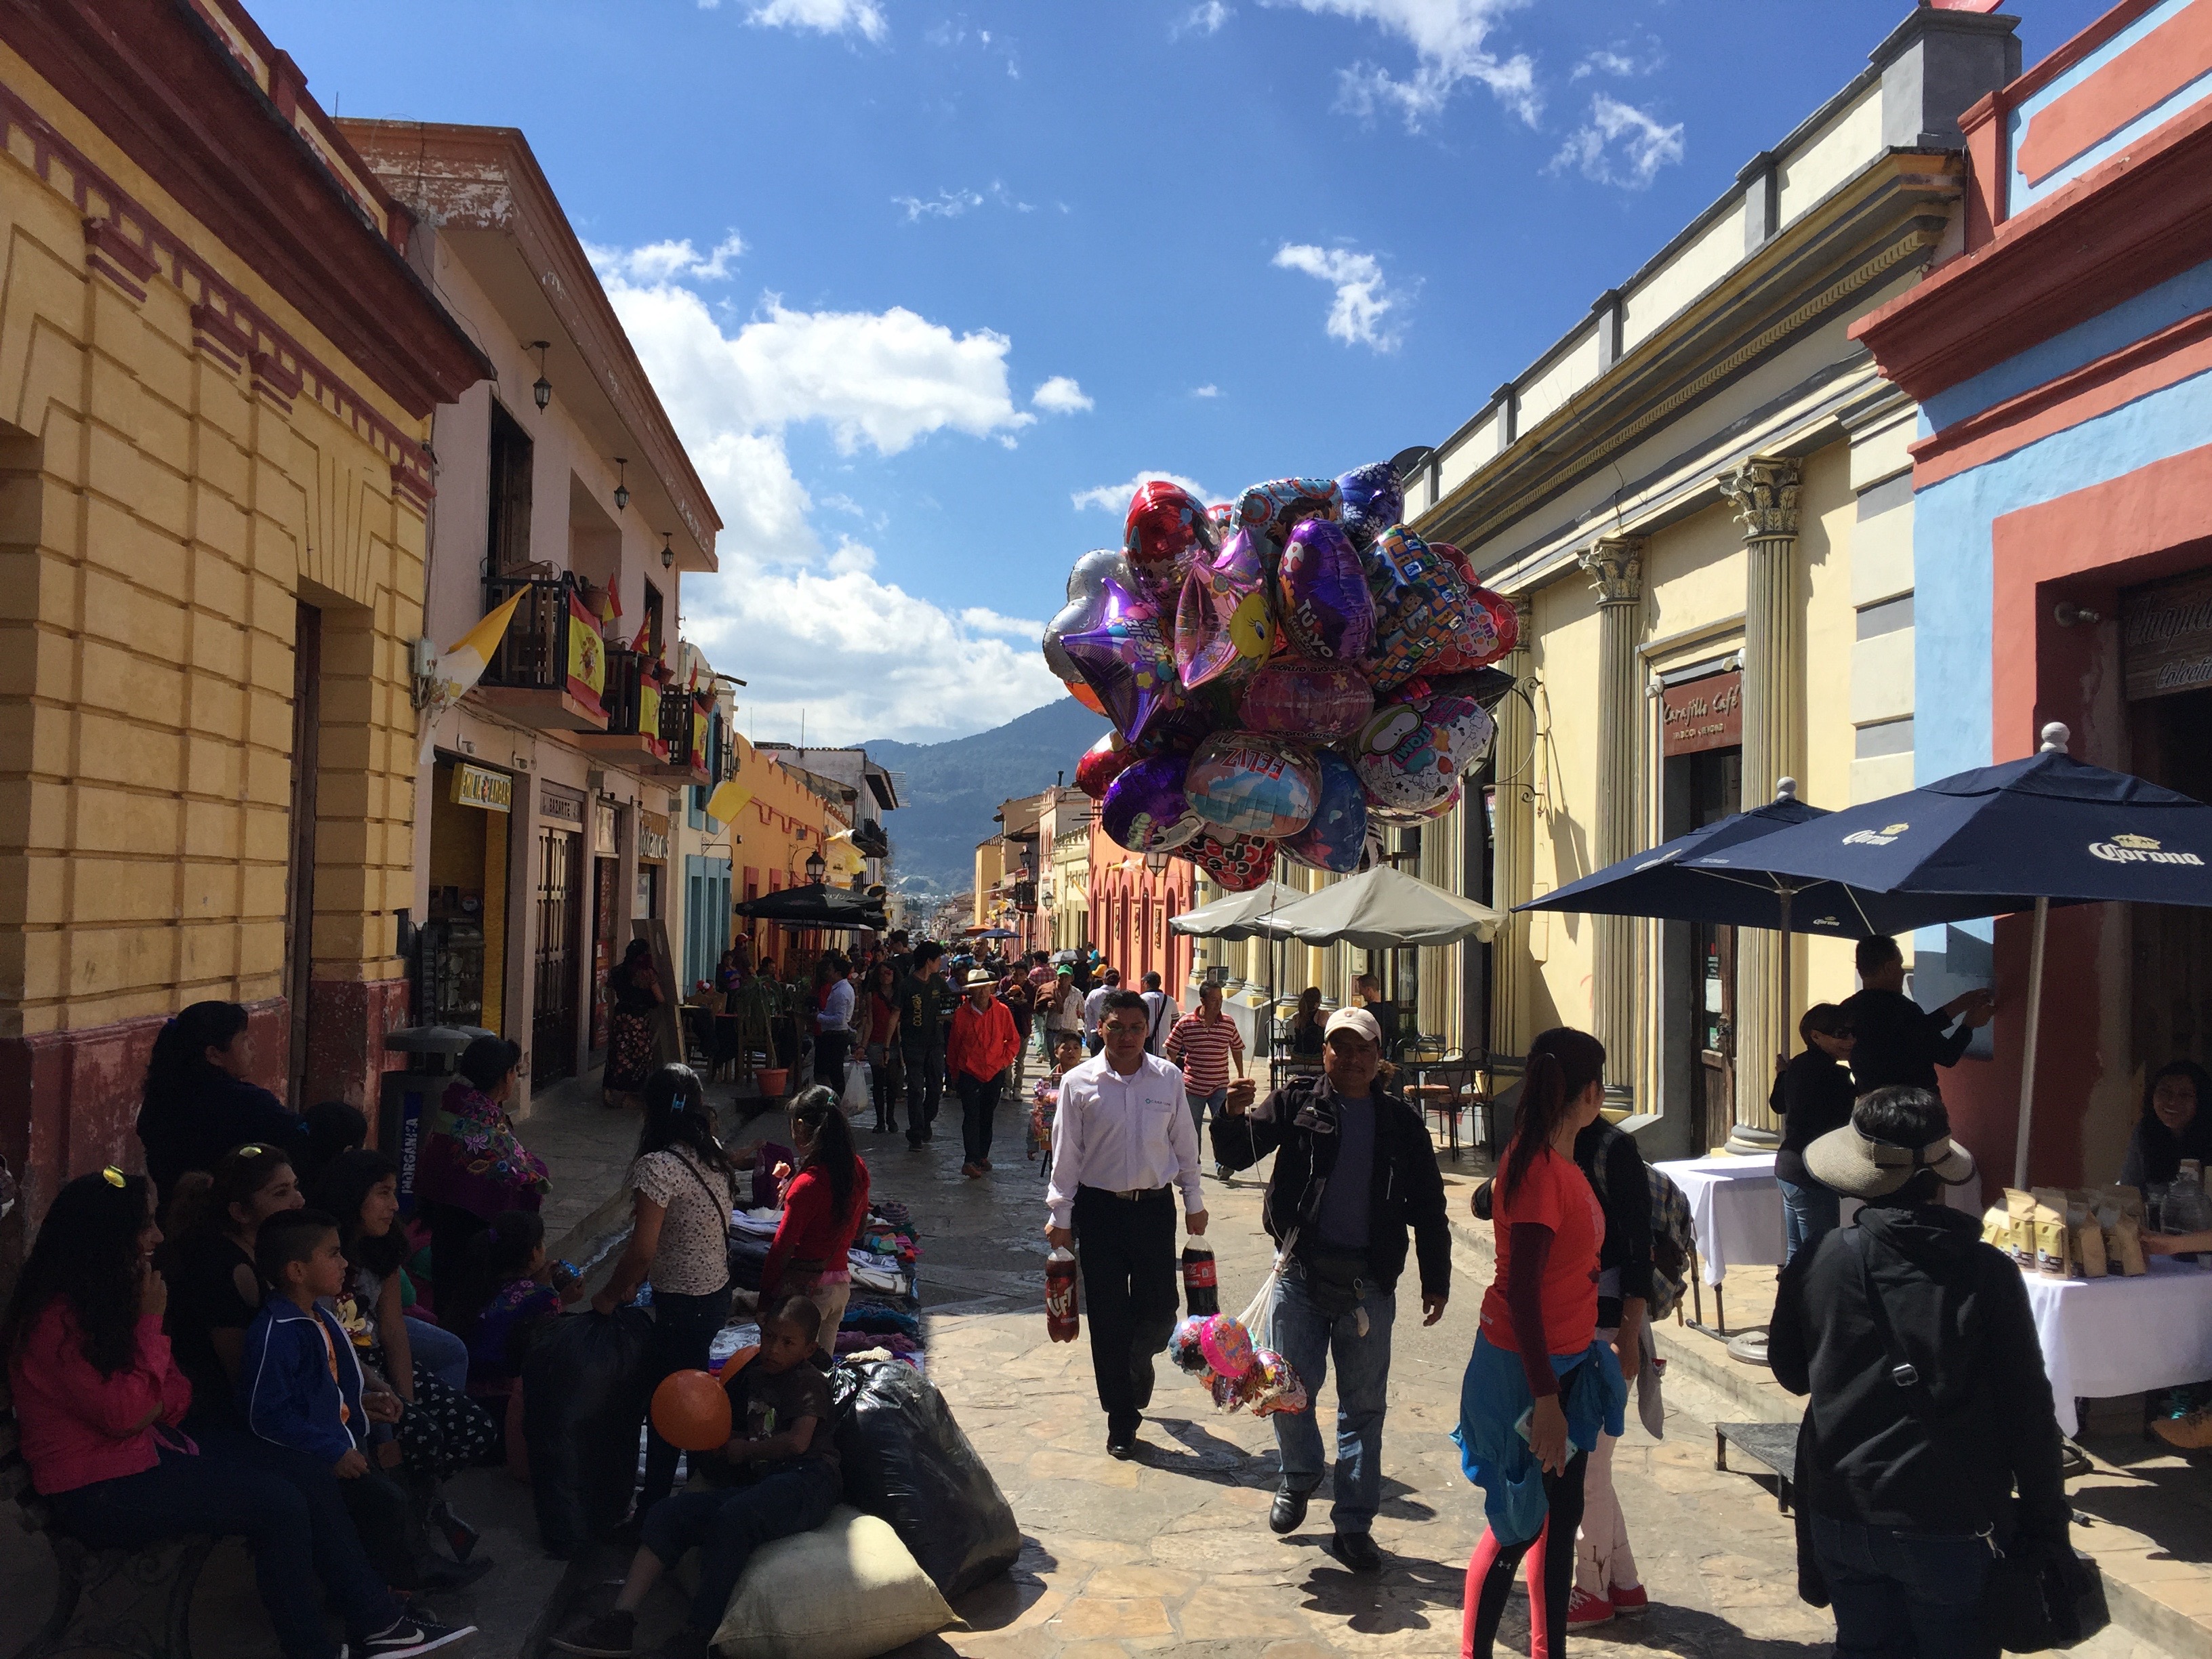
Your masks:
[[[1989,1544],[1809,1515],[1836,1659],[1995,1659],[1982,1632]]]

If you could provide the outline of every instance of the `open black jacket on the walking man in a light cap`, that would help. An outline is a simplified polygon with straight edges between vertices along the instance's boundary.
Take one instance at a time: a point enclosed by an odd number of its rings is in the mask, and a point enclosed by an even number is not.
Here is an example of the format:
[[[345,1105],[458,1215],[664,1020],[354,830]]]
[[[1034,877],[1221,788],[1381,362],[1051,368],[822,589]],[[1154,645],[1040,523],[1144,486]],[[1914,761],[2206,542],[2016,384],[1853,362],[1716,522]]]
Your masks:
[[[1407,1228],[1420,1254],[1420,1294],[1451,1294],[1451,1223],[1444,1177],[1429,1126],[1398,1095],[1374,1091],[1376,1159],[1367,1201],[1367,1265],[1380,1290],[1405,1272]],[[1307,1228],[1321,1210],[1321,1183],[1336,1168],[1336,1088],[1327,1077],[1296,1077],[1241,1117],[1214,1117],[1214,1161],[1248,1170],[1274,1152],[1261,1219],[1276,1243]]]

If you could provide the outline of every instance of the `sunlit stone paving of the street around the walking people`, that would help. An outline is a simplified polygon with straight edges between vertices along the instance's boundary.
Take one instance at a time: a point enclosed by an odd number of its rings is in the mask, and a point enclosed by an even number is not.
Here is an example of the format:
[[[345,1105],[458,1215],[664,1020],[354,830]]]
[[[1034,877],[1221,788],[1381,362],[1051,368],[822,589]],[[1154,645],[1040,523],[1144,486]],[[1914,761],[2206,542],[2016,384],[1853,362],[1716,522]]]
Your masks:
[[[1385,1504],[1374,1528],[1387,1564],[1376,1577],[1354,1577],[1327,1551],[1327,1486],[1298,1533],[1274,1537],[1270,1427],[1212,1409],[1197,1383],[1166,1363],[1137,1458],[1106,1455],[1088,1334],[1071,1345],[1044,1334],[1037,1164],[1022,1157],[1020,1130],[1002,1130],[995,1172],[964,1181],[951,1128],[953,1119],[940,1119],[938,1139],[922,1152],[891,1150],[887,1137],[867,1133],[860,1144],[876,1190],[907,1201],[925,1228],[931,1376],[1006,1489],[1029,1551],[1013,1584],[962,1599],[971,1630],[907,1648],[902,1659],[1458,1652],[1467,1553],[1482,1528],[1480,1493],[1460,1475],[1447,1438],[1489,1279],[1469,1239],[1458,1239],[1451,1307],[1440,1325],[1420,1329],[1418,1314],[1407,1316],[1409,1287],[1400,1287]],[[1453,1175],[1447,1161],[1444,1170],[1449,1203],[1464,1214],[1473,1164]],[[1221,1303],[1234,1310],[1267,1265],[1261,1181],[1208,1177],[1206,1190]],[[1332,1389],[1323,1389],[1321,1405],[1334,1416]],[[1652,1608],[1573,1644],[1681,1659],[1827,1655],[1834,1626],[1796,1599],[1792,1526],[1772,1489],[1714,1471],[1714,1405],[1694,1387],[1670,1383],[1668,1407],[1666,1440],[1630,1420],[1615,1460]],[[1327,1436],[1329,1416],[1323,1422]],[[1515,1597],[1500,1652],[1528,1650],[1524,1608]],[[2117,1628],[2075,1652],[2163,1659],[2163,1650]]]

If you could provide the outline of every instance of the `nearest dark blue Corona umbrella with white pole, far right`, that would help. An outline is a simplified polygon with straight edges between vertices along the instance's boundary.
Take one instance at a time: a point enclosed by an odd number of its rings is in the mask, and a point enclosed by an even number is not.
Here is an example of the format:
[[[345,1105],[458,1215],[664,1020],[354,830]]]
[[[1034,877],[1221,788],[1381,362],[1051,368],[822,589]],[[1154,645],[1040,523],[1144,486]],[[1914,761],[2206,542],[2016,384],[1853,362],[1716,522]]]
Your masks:
[[[1958,902],[1962,909],[1953,911],[1953,920],[2033,907],[2015,1186],[2028,1179],[2051,905],[2212,907],[2212,807],[2126,772],[2075,761],[2066,754],[2066,737],[2064,726],[2046,726],[2042,750],[2026,761],[1960,772],[1776,830],[1754,847],[1690,860],[1697,869],[1739,876],[1756,872],[1840,883],[1851,902],[1860,894]],[[1869,920],[1867,931],[1885,931],[1871,927],[1869,909],[1860,916]]]

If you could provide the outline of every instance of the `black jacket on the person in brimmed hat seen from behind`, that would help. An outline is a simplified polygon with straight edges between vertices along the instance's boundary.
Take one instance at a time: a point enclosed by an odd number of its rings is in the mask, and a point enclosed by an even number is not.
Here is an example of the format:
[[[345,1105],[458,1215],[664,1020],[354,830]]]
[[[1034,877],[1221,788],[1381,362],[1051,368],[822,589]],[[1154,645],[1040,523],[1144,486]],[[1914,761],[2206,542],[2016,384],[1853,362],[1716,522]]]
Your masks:
[[[2017,1484],[2020,1522],[2066,1537],[2059,1425],[2020,1267],[1944,1206],[1869,1206],[1783,1267],[1767,1332],[1774,1380],[1809,1394],[1796,1486],[1805,1511],[1909,1533],[1997,1524]],[[1944,1447],[1889,1378],[1860,1270],[1920,1371]]]

